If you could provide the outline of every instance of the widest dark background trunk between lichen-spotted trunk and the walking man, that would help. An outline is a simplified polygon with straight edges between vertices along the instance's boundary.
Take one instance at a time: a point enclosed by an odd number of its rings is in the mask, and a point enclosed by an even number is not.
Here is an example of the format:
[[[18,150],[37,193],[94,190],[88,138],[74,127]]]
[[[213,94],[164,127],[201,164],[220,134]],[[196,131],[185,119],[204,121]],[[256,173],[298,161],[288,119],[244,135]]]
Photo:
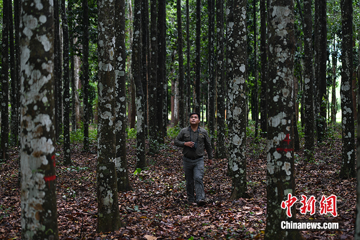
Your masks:
[[[157,141],[159,143],[164,143],[164,119],[163,109],[164,109],[164,98],[166,98],[164,91],[164,83],[165,83],[165,50],[164,45],[164,36],[165,36],[165,0],[159,0],[157,5],[157,40],[158,40],[158,56],[157,56],[157,87],[156,87],[156,96],[157,96]]]

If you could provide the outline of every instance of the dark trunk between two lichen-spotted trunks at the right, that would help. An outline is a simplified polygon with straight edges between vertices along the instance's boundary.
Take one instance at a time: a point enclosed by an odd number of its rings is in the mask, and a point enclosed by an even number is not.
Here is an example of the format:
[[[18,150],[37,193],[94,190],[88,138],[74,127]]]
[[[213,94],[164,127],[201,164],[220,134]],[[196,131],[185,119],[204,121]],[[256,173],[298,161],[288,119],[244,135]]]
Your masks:
[[[319,118],[317,121],[317,141],[322,142],[326,134],[327,108],[327,28],[326,28],[326,0],[319,1]]]

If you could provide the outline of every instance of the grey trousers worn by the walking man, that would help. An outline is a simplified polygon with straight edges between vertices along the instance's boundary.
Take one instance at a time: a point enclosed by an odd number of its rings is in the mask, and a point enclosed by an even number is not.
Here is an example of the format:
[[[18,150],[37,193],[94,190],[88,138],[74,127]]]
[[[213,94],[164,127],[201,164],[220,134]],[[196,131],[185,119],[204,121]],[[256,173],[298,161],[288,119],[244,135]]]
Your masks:
[[[204,157],[198,159],[189,159],[183,156],[185,180],[186,180],[186,193],[189,202],[195,202],[194,190],[196,193],[196,202],[205,200],[204,191]]]

